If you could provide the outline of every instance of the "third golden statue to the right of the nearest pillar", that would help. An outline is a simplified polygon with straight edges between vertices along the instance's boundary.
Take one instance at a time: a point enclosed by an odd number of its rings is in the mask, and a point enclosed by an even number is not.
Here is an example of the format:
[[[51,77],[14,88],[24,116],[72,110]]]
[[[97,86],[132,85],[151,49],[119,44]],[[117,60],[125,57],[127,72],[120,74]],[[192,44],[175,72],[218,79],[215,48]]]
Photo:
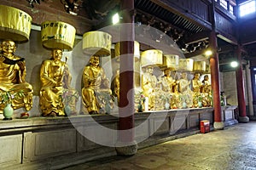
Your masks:
[[[181,102],[186,103],[188,107],[193,105],[193,92],[189,88],[190,83],[187,73],[183,72],[182,78],[179,80],[179,92],[181,93]]]

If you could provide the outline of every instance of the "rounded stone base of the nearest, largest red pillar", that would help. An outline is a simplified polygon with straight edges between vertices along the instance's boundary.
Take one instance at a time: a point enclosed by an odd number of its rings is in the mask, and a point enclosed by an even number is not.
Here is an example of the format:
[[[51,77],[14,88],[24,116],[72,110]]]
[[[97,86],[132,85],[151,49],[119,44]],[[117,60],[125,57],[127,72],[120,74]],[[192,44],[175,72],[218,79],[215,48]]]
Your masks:
[[[131,143],[117,142],[115,150],[119,156],[133,156],[137,153],[137,142]]]

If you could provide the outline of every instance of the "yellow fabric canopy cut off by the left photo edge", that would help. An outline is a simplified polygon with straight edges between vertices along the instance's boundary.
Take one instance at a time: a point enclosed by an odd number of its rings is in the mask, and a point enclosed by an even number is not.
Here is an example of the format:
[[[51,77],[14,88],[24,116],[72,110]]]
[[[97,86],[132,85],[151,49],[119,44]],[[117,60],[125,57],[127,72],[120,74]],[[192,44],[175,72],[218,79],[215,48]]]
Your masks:
[[[27,42],[31,31],[32,17],[26,12],[0,5],[0,39]]]

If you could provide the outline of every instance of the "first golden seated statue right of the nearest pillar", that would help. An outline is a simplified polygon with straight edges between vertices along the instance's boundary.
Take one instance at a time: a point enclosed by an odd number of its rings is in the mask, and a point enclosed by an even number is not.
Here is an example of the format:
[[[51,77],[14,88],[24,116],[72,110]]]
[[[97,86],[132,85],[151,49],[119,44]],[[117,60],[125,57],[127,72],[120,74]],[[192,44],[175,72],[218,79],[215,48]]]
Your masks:
[[[154,67],[148,66],[142,76],[142,88],[145,97],[148,97],[148,110],[155,110],[155,100],[157,89],[157,78],[153,74]],[[159,93],[157,93],[159,94]]]

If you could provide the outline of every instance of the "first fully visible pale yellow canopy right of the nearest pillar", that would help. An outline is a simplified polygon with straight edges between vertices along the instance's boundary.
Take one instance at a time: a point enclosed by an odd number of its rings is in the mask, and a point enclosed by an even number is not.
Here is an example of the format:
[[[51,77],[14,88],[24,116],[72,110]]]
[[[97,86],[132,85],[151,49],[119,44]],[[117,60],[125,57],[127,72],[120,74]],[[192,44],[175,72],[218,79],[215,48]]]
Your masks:
[[[163,65],[163,52],[158,49],[143,51],[141,54],[141,65],[142,67]]]

